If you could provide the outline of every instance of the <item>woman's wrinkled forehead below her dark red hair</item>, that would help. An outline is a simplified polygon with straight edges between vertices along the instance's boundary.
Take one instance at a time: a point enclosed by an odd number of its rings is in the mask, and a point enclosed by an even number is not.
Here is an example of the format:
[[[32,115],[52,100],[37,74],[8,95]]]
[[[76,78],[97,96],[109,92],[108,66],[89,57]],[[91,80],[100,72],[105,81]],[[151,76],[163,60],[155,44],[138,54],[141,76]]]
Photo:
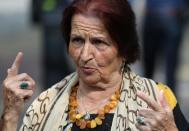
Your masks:
[[[84,15],[75,15],[71,24],[72,33],[90,33],[96,35],[108,35],[103,23],[96,17],[88,17]]]

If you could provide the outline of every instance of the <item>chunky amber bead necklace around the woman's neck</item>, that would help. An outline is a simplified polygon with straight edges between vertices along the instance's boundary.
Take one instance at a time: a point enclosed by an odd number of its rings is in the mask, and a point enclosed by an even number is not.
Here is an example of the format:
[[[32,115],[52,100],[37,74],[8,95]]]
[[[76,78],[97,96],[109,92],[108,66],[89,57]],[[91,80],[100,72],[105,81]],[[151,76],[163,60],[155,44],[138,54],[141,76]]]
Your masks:
[[[75,123],[80,129],[95,128],[99,125],[102,125],[103,120],[105,119],[105,114],[115,109],[120,99],[120,89],[118,89],[115,91],[113,95],[110,96],[110,98],[108,99],[109,102],[97,111],[98,112],[97,117],[94,119],[90,119],[90,114],[88,112],[83,114],[83,113],[79,113],[77,110],[78,108],[77,91],[78,91],[78,87],[77,86],[73,87],[69,98],[69,105],[68,105],[69,125],[68,128],[66,128],[68,131],[71,131],[73,123]]]

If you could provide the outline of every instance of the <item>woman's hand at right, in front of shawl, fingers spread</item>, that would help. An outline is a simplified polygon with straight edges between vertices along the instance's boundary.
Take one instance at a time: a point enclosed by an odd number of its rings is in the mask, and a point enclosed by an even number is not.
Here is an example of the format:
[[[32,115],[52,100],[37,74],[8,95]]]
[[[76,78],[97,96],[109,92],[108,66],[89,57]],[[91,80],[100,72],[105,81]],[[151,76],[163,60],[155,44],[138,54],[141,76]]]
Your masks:
[[[136,124],[140,131],[178,131],[172,109],[169,107],[164,97],[163,90],[159,92],[159,102],[151,100],[143,92],[137,92],[137,96],[144,100],[149,109],[139,110],[139,117],[143,118],[143,124]]]

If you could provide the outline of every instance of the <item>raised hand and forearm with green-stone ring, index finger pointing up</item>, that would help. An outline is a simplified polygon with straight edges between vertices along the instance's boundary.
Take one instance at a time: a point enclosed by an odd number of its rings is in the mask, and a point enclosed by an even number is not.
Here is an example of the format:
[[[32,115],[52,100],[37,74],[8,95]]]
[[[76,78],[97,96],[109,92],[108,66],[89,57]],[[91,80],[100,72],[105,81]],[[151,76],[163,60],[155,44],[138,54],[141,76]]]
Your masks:
[[[22,58],[23,53],[19,52],[7,70],[7,77],[3,82],[3,128],[6,131],[7,128],[14,129],[13,126],[17,126],[24,102],[31,98],[35,88],[35,81],[28,74],[19,74]]]

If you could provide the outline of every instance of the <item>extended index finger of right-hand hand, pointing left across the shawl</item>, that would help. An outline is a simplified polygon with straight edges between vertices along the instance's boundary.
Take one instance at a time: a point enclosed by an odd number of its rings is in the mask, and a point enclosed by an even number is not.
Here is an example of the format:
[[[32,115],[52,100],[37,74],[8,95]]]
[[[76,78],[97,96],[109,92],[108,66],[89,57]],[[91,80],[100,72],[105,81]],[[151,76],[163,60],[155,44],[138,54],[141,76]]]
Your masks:
[[[137,96],[141,98],[143,101],[145,101],[148,106],[153,109],[154,111],[161,111],[162,108],[159,106],[159,104],[152,100],[150,97],[148,97],[146,94],[144,94],[142,91],[137,91]]]

